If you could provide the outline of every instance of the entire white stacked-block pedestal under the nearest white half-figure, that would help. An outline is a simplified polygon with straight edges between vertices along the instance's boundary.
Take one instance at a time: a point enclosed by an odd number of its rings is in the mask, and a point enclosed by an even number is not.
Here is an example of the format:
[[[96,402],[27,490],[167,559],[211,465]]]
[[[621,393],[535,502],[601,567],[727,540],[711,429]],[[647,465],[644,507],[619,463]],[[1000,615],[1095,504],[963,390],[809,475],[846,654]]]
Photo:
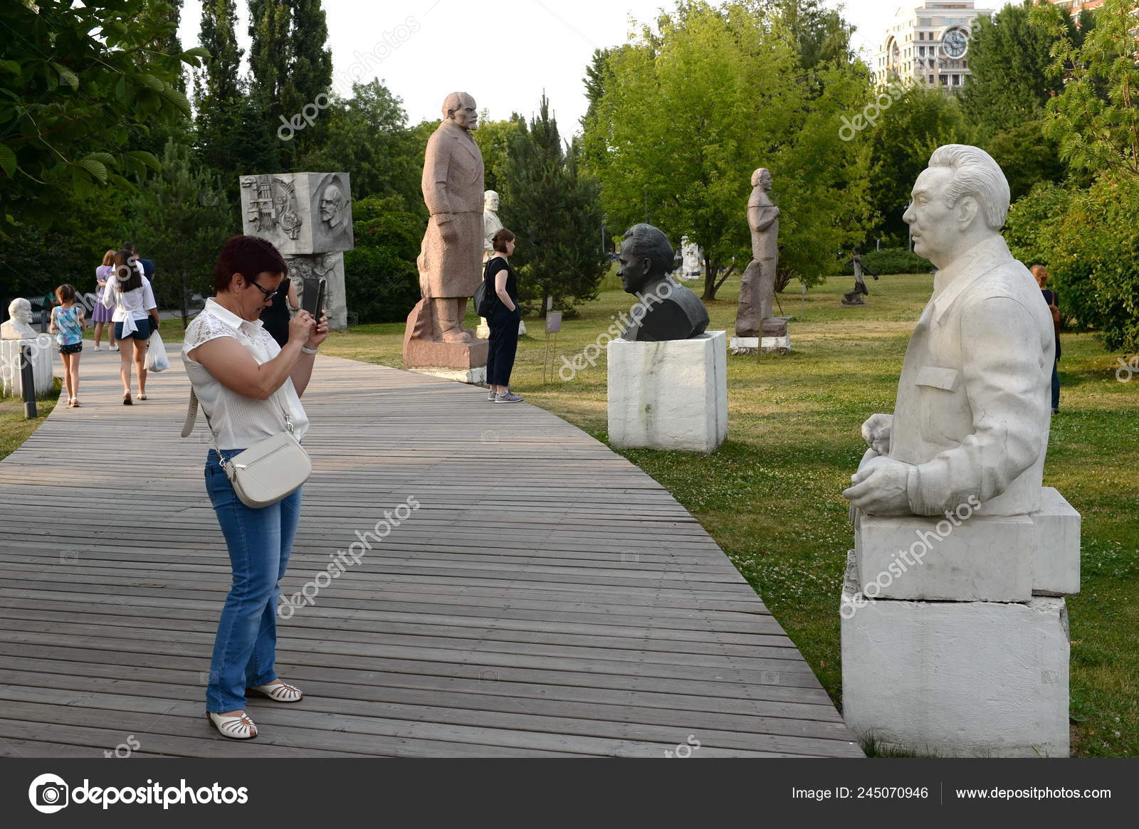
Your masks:
[[[839,605],[843,717],[880,746],[1068,755],[1068,629],[1080,514],[878,517],[855,510]]]

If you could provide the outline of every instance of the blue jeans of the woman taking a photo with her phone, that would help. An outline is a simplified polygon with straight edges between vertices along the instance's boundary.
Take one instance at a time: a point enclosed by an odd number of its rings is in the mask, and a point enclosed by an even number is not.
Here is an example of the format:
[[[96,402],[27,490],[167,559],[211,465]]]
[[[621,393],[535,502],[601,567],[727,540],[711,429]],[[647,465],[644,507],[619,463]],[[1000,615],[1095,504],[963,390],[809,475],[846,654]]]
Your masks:
[[[223,449],[229,459],[240,449]],[[218,623],[206,711],[221,714],[245,707],[245,689],[277,679],[278,582],[288,567],[293,537],[301,518],[301,492],[270,507],[241,503],[218,453],[206,458],[206,492],[226,536],[233,581]]]

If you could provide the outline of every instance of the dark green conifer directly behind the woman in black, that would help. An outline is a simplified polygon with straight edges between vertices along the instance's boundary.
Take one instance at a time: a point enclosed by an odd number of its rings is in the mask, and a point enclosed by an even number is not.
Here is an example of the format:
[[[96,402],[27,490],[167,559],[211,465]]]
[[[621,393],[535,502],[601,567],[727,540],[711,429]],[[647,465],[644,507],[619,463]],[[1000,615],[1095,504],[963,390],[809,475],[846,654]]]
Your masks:
[[[528,126],[521,123],[510,138],[501,214],[518,237],[523,287],[541,297],[543,315],[547,297],[570,314],[597,297],[609,264],[598,184],[579,166],[576,147],[566,151],[546,96]]]

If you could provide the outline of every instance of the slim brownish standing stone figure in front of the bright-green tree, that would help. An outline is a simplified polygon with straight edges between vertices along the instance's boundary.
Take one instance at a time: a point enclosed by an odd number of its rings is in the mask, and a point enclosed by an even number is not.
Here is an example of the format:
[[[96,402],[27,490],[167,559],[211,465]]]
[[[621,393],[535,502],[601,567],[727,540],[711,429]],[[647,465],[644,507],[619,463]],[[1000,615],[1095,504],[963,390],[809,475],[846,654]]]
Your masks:
[[[752,173],[752,196],[747,199],[747,224],[752,230],[752,261],[744,271],[736,311],[737,337],[782,336],[786,323],[771,319],[779,264],[779,208],[771,202],[771,173],[760,167]],[[767,321],[767,329],[764,323]],[[776,330],[776,329],[779,330]]]

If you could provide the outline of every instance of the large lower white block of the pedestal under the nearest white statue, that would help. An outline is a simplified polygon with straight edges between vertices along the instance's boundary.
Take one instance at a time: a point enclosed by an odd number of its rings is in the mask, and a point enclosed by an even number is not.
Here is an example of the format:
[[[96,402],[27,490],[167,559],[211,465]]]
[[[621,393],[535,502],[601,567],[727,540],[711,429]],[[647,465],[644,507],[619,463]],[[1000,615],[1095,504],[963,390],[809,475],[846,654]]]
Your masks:
[[[839,609],[851,730],[923,755],[1068,755],[1064,599],[868,600],[853,559]]]

